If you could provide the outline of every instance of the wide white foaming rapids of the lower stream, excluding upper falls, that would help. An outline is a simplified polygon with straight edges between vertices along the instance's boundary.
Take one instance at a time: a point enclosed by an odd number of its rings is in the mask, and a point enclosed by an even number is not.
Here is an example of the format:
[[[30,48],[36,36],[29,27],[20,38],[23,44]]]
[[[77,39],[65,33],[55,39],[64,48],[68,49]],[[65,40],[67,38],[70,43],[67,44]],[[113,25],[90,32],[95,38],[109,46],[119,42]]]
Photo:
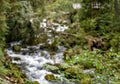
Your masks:
[[[14,45],[14,44],[11,44]],[[21,49],[23,51],[29,51],[34,49],[32,53],[23,54],[23,52],[15,53],[11,48],[6,49],[9,56],[13,58],[12,62],[17,63],[21,66],[22,70],[26,73],[28,78],[32,81],[38,81],[40,84],[57,84],[51,83],[45,79],[46,74],[52,74],[44,69],[45,63],[53,64],[53,60],[50,58],[50,53],[46,50],[38,49],[38,46],[28,46],[27,48]],[[58,51],[55,53],[55,59],[57,63],[62,62],[63,51],[65,48],[63,46],[58,47]],[[20,58],[20,60],[15,60],[15,58]]]

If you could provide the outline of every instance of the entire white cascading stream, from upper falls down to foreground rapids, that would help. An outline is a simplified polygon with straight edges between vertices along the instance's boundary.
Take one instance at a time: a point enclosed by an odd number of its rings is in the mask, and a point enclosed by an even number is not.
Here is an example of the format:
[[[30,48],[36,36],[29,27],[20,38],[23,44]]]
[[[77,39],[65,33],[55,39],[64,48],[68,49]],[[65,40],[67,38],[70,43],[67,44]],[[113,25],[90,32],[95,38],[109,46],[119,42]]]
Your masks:
[[[56,28],[53,26],[57,25]],[[61,26],[60,24],[53,24],[51,27],[53,30],[56,32],[64,31],[68,27],[63,25]],[[51,37],[50,31],[47,30],[47,23],[43,21],[41,23],[41,27],[44,28],[45,33],[47,33],[48,37]],[[39,37],[39,36],[38,36]],[[48,44],[51,44],[54,38],[48,38]],[[36,46],[27,46],[26,48],[21,48],[21,52],[14,52],[12,50],[12,47],[14,45],[20,45],[20,42],[13,42],[11,43],[11,48],[6,49],[7,54],[11,56],[12,62],[17,63],[22,70],[26,73],[28,78],[32,81],[38,81],[40,84],[66,84],[63,82],[49,82],[45,79],[46,74],[52,74],[52,72],[49,72],[44,69],[44,64],[45,63],[51,63],[54,64],[54,60],[51,58],[50,53],[47,50],[40,49],[42,44],[38,44]],[[63,46],[58,46],[58,50],[55,52],[55,57],[54,59],[56,60],[57,63],[63,62],[63,51],[66,48]],[[15,58],[19,58],[19,60],[16,60]],[[54,74],[56,75],[56,74]],[[56,75],[59,76],[59,75]],[[68,83],[67,83],[68,84]],[[69,83],[73,84],[73,83]]]

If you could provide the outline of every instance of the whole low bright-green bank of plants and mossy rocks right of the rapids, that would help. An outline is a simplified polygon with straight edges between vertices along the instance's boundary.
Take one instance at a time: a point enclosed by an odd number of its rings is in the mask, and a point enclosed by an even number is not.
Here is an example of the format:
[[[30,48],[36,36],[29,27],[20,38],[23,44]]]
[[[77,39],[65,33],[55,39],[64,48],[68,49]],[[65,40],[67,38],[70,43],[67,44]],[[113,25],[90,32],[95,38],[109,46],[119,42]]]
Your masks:
[[[76,53],[74,53],[76,54]],[[119,82],[120,53],[96,51],[82,51],[81,54],[72,56],[57,68],[62,78],[81,83]],[[63,66],[64,65],[64,66]],[[54,73],[54,72],[53,72]],[[58,77],[59,79],[59,77]]]

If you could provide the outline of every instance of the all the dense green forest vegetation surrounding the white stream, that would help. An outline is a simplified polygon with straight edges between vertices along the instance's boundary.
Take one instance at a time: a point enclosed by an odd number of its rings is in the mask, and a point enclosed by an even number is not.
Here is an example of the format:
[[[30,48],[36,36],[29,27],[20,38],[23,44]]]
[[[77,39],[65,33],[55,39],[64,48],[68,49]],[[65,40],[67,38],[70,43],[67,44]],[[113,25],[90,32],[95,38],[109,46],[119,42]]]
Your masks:
[[[82,8],[74,9],[74,3],[81,3]],[[4,49],[13,41],[21,41],[22,46],[46,43],[46,34],[38,37],[44,31],[40,22],[46,18],[69,26],[64,32],[53,31],[59,38],[43,46],[50,52],[55,52],[58,45],[68,48],[65,63],[46,64],[47,70],[82,84],[119,84],[119,5],[120,0],[0,0],[0,75],[32,84],[23,73],[19,74]],[[11,70],[15,72],[8,73]],[[48,80],[60,79],[47,76]]]

